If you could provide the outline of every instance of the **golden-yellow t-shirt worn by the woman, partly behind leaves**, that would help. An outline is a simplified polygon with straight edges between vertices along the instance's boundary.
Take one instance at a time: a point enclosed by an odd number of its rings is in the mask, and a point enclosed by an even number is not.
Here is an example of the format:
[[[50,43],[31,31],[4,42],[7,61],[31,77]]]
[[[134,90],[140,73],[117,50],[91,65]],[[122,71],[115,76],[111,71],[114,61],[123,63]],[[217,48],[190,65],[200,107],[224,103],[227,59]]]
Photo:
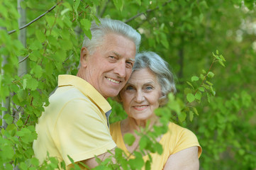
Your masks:
[[[128,149],[126,148],[125,143],[123,142],[123,137],[121,133],[120,121],[110,125],[110,133],[113,140],[116,142],[117,147],[123,149],[123,151],[128,155]],[[175,154],[183,149],[189,147],[199,147],[198,157],[201,156],[201,146],[197,140],[196,135],[193,132],[186,128],[182,128],[175,123],[169,123],[168,132],[165,133],[161,140],[160,144],[162,145],[163,152],[161,155],[155,153],[150,154],[152,157],[151,169],[163,169],[169,155]],[[148,160],[148,156],[143,157],[144,160]]]

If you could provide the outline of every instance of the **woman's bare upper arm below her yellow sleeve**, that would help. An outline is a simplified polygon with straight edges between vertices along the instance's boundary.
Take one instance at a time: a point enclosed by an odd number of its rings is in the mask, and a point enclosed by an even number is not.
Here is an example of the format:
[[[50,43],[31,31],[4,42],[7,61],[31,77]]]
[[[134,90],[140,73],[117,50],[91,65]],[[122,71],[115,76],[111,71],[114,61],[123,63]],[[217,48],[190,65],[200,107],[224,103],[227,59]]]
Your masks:
[[[164,170],[198,170],[199,158],[198,147],[189,147],[175,154],[172,154],[167,159]]]

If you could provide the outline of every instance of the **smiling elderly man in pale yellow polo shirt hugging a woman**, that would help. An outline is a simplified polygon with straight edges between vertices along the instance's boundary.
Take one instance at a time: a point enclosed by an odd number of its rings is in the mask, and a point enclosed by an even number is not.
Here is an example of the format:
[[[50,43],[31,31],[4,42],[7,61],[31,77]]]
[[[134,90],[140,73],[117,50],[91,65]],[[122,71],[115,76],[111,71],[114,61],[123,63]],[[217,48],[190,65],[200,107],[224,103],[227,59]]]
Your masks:
[[[38,119],[38,139],[33,143],[40,162],[50,157],[67,167],[83,162],[97,165],[116,147],[108,130],[111,106],[106,98],[117,96],[128,81],[140,45],[140,34],[121,21],[101,19],[91,24],[92,38],[84,38],[77,76],[60,75],[50,105]]]

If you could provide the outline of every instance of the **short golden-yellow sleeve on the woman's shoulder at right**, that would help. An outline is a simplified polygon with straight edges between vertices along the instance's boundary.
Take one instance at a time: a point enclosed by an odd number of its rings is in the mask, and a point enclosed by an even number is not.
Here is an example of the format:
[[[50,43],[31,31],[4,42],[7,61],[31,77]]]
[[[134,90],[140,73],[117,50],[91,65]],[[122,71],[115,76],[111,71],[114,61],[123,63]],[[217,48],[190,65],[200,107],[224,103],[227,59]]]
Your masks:
[[[199,141],[197,140],[196,135],[194,135],[191,130],[188,130],[186,128],[182,128],[182,130],[178,134],[179,135],[177,135],[177,145],[175,146],[172,154],[175,154],[189,147],[199,147],[198,157],[200,157],[202,149],[199,145]]]

